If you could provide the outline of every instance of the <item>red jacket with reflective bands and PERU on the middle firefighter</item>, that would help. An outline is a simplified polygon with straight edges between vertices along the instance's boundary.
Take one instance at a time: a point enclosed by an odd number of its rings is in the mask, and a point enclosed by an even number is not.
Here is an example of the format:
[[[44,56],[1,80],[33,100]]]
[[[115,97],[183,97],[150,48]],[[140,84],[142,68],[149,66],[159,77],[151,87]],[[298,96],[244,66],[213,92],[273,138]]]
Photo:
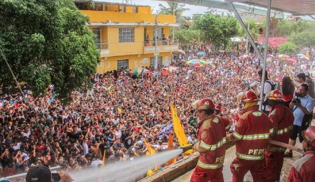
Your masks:
[[[237,138],[236,156],[245,160],[262,160],[268,147],[272,123],[268,116],[253,105],[241,112],[235,130],[230,137]]]

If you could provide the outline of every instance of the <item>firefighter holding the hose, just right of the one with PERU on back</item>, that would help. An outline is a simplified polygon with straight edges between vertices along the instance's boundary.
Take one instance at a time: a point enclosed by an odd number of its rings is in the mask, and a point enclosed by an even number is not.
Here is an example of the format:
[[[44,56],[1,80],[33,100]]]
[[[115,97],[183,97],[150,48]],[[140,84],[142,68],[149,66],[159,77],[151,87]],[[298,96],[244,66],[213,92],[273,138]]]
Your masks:
[[[283,143],[289,142],[290,130],[292,129],[294,116],[292,111],[284,106],[283,94],[276,89],[266,96],[263,105],[270,105],[269,119],[273,123],[271,139]],[[282,165],[284,163],[284,147],[269,144],[265,151],[265,162],[267,167],[268,181],[280,181]]]

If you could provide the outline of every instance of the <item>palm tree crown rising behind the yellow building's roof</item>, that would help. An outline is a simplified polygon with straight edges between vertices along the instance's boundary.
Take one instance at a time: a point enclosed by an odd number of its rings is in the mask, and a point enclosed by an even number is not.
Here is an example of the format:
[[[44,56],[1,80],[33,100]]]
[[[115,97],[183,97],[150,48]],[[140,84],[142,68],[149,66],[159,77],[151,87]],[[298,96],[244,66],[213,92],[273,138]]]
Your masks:
[[[175,15],[176,20],[179,19],[183,15],[185,11],[188,11],[189,8],[185,8],[185,4],[179,4],[176,2],[167,2],[168,7],[164,6],[163,4],[158,4],[160,13],[166,15]]]

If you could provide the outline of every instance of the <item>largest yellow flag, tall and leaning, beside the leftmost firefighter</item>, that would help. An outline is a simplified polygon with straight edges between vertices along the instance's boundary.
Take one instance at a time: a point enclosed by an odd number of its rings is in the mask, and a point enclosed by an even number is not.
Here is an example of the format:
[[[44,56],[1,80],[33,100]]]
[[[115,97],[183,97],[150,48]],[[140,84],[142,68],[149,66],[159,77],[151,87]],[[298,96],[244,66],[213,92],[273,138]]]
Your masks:
[[[172,113],[174,133],[175,133],[176,137],[178,138],[179,145],[181,147],[185,147],[188,145],[188,141],[187,141],[187,138],[185,136],[185,132],[183,130],[181,122],[179,120],[179,117],[175,111],[173,103],[171,103],[171,113]]]

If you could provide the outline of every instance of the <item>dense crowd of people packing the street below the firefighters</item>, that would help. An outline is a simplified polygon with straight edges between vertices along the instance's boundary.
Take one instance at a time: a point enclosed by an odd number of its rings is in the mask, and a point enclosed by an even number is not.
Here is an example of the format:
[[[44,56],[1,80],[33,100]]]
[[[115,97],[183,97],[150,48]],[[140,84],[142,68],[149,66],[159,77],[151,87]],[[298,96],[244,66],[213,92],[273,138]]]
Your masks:
[[[141,78],[132,78],[127,68],[118,71],[118,78],[113,72],[96,74],[91,77],[92,85],[71,94],[68,105],[56,100],[53,85],[43,97],[33,97],[31,90],[25,90],[35,111],[19,94],[2,97],[0,175],[24,173],[37,164],[60,165],[66,172],[98,168],[103,156],[106,165],[133,160],[148,152],[144,142],[158,152],[165,151],[168,133],[164,129],[172,122],[170,103],[191,144],[196,142],[198,123],[193,101],[211,98],[221,114],[233,120],[241,108],[237,94],[253,84],[259,87],[256,54],[210,54],[201,45],[184,51],[187,55],[173,62],[178,69],[167,74],[160,74],[162,68],[148,68],[153,74]],[[187,66],[185,60],[200,51],[206,52],[208,64]],[[307,60],[291,63],[274,52],[269,56],[267,70],[274,82],[282,83],[284,76],[294,78],[310,67]],[[179,147],[176,137],[174,147]]]

